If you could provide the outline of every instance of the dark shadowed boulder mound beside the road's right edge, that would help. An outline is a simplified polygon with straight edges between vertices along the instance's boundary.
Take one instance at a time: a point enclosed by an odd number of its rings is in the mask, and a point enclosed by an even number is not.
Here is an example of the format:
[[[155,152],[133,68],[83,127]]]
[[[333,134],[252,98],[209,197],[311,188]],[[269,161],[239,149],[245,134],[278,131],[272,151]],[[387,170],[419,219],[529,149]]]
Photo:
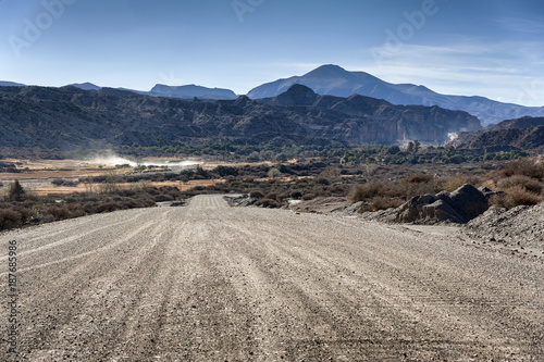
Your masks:
[[[463,185],[454,192],[422,195],[411,198],[397,209],[364,213],[366,219],[413,224],[466,224],[489,209],[493,192]]]

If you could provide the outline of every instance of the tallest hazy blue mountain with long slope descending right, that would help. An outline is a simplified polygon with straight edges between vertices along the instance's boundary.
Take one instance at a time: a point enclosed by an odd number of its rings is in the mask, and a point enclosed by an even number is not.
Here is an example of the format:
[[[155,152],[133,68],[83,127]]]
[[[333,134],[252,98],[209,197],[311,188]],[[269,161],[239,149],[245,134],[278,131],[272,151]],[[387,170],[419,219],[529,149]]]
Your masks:
[[[393,104],[438,105],[447,110],[469,112],[483,125],[521,116],[544,116],[544,107],[523,107],[502,103],[484,97],[447,96],[424,86],[391,84],[364,72],[348,72],[338,65],[322,65],[302,76],[263,84],[248,92],[250,99],[271,98],[286,91],[294,84],[302,84],[318,95],[349,97],[361,95],[384,99]]]

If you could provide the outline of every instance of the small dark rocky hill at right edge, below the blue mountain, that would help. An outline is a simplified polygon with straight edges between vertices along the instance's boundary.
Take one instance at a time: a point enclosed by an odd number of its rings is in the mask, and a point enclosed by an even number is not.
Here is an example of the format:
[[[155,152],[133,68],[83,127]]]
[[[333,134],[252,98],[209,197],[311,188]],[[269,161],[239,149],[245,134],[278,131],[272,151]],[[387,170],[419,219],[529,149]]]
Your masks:
[[[544,151],[544,117],[508,120],[481,132],[461,133],[454,146],[487,151]]]

